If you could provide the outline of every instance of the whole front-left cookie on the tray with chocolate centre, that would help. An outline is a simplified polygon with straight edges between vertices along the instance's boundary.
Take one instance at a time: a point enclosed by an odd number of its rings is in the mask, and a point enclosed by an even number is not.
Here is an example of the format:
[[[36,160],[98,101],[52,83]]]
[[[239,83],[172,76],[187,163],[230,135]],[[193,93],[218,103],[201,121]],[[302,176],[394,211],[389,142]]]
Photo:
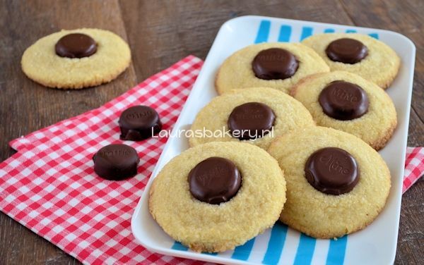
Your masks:
[[[264,149],[211,142],[175,156],[153,180],[151,215],[196,252],[242,245],[278,220],[285,202],[281,168]]]

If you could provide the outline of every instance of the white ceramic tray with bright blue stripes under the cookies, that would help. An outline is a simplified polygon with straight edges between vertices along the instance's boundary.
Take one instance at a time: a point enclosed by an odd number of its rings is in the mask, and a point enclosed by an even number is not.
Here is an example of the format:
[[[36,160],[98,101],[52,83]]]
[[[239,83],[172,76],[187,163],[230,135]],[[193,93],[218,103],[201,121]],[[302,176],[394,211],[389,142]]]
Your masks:
[[[387,92],[394,101],[398,127],[387,147],[379,153],[391,172],[387,205],[367,228],[338,240],[316,240],[277,223],[234,251],[219,254],[195,253],[166,235],[148,212],[148,192],[144,192],[131,228],[137,240],[152,252],[225,264],[393,264],[401,208],[406,140],[413,84],[416,48],[410,39],[396,32],[365,27],[332,25],[282,18],[243,16],[228,20],[220,28],[192,92],[174,130],[189,128],[196,113],[216,92],[216,71],[225,58],[238,49],[259,42],[299,42],[322,32],[359,32],[380,39],[401,57],[399,75]],[[188,148],[187,139],[170,138],[146,186],[172,157]]]

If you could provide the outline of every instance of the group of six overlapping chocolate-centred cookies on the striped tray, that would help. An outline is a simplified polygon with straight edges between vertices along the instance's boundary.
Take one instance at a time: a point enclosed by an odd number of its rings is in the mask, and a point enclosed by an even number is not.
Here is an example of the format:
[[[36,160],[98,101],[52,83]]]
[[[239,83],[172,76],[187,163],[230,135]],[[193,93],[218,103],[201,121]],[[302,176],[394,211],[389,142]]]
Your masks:
[[[278,219],[314,238],[365,228],[391,186],[377,150],[396,128],[384,90],[399,66],[390,47],[360,34],[235,52],[218,70],[220,95],[192,124],[225,133],[194,133],[160,171],[153,218],[198,252],[233,249]]]

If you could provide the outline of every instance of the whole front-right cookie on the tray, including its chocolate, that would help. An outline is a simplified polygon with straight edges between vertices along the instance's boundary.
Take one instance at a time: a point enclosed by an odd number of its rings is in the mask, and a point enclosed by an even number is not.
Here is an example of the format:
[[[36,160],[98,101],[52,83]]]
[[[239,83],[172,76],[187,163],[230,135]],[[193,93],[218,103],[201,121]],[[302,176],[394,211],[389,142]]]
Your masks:
[[[315,127],[290,132],[268,150],[287,182],[280,220],[314,238],[368,226],[384,208],[391,180],[382,157],[354,135]]]

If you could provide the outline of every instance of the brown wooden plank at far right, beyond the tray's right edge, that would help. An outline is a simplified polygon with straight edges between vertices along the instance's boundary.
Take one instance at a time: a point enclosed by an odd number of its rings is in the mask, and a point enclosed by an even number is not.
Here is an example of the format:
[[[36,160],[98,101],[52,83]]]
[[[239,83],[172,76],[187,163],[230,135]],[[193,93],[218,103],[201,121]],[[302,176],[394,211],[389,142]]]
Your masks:
[[[424,1],[344,1],[353,23],[394,30],[409,37],[417,48],[413,82],[409,146],[424,145]],[[423,179],[402,198],[401,223],[395,264],[424,264]]]

